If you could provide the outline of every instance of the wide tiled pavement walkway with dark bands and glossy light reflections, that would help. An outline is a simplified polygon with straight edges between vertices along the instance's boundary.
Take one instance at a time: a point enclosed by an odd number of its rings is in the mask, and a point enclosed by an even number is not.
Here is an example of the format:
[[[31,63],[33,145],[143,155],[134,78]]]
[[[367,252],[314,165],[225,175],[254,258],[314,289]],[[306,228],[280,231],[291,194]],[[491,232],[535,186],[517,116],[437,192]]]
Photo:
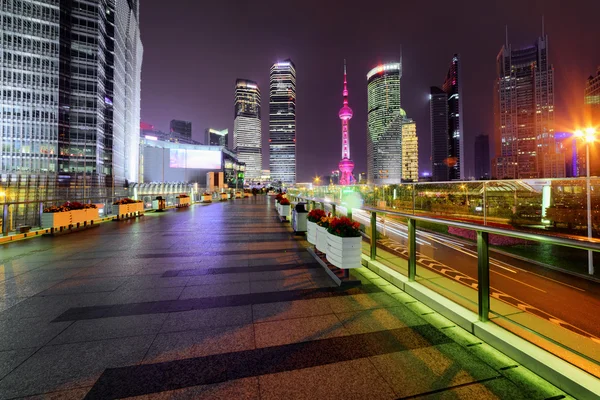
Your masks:
[[[5,245],[0,398],[565,398],[306,245],[265,197]]]

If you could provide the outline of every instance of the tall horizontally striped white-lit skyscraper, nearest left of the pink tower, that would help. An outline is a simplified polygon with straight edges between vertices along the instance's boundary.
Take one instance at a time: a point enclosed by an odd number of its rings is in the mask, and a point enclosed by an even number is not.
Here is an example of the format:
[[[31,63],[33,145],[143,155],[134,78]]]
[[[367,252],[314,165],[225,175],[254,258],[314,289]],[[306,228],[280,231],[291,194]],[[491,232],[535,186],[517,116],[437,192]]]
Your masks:
[[[289,59],[269,75],[269,153],[271,180],[296,183],[296,66]]]

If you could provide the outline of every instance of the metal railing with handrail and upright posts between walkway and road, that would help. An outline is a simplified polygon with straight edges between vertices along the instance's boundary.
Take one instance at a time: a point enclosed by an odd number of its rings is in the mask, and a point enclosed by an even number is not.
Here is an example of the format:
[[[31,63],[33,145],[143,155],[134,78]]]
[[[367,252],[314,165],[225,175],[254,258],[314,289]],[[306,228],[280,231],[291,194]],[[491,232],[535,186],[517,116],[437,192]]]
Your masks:
[[[290,193],[288,191],[288,196],[294,198],[297,201],[307,201],[309,204],[312,203],[312,208],[315,208],[317,204],[321,209],[325,209],[326,206],[332,207],[333,215],[338,213],[340,208],[340,204],[336,204],[331,202],[329,199],[323,198],[314,198],[303,196],[301,193]],[[352,209],[347,208],[348,215],[352,218]],[[407,250],[408,250],[408,270],[407,276],[409,282],[414,282],[417,278],[417,222],[427,222],[434,224],[441,224],[447,226],[453,226],[460,229],[467,229],[476,232],[476,248],[477,248],[477,313],[478,319],[481,322],[488,322],[490,320],[490,254],[489,254],[489,235],[501,235],[501,236],[509,236],[517,239],[523,239],[527,241],[533,242],[543,242],[549,243],[557,246],[570,247],[580,250],[600,252],[600,240],[598,239],[590,239],[590,238],[566,238],[560,236],[548,236],[548,235],[540,235],[531,232],[520,232],[515,230],[508,230],[502,228],[496,228],[485,225],[477,225],[472,223],[465,223],[459,221],[452,220],[443,220],[436,219],[427,216],[419,216],[414,214],[408,214],[399,211],[392,211],[387,209],[379,209],[370,206],[362,206],[360,210],[367,212],[370,214],[370,227],[368,229],[370,236],[370,249],[369,249],[369,257],[371,260],[377,259],[377,237],[378,237],[378,221],[377,215],[390,215],[395,217],[401,217],[406,220],[407,225]],[[356,208],[355,208],[356,211]],[[366,227],[365,227],[366,228]],[[448,296],[445,296],[448,297]],[[499,314],[494,312],[495,314]],[[519,324],[515,321],[510,321],[514,324]],[[599,349],[596,349],[593,353],[594,356],[590,356],[588,354],[584,354],[582,351],[576,350],[572,348],[570,345],[560,342],[556,338],[552,338],[547,336],[544,333],[540,333],[532,329],[529,326],[520,325],[520,328],[534,333],[535,335],[542,337],[549,341],[554,345],[558,345],[563,349],[568,350],[569,352],[580,356],[586,361],[591,362],[596,366],[600,366],[600,358],[596,356],[598,354]],[[564,328],[563,328],[564,329]],[[598,346],[600,344],[600,340],[595,338],[596,340],[592,342],[592,346]],[[577,364],[576,364],[577,365]],[[578,365],[581,367],[581,365]],[[586,369],[586,368],[584,368]]]

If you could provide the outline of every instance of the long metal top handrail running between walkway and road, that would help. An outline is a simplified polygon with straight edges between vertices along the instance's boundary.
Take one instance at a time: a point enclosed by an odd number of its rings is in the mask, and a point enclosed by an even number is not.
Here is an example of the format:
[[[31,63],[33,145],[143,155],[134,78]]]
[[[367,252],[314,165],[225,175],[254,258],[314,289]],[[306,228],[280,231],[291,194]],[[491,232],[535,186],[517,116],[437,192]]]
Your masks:
[[[302,197],[302,196],[297,196],[297,195],[293,195],[293,196],[297,197],[297,198],[314,201],[316,203],[334,204],[333,202],[326,200],[326,199]],[[335,203],[335,204],[338,206],[341,205],[341,204],[337,204],[337,203]],[[343,205],[341,205],[341,206],[344,207]],[[572,247],[572,248],[580,249],[580,250],[592,250],[592,251],[600,252],[600,239],[593,239],[593,238],[586,238],[586,237],[582,237],[581,239],[569,239],[569,238],[564,238],[564,237],[560,237],[560,236],[540,235],[537,233],[519,232],[519,231],[513,231],[513,230],[509,230],[509,229],[495,228],[495,227],[490,227],[489,225],[469,224],[466,222],[457,222],[457,221],[452,221],[452,220],[448,220],[448,219],[436,219],[436,218],[431,218],[431,217],[423,217],[423,216],[418,216],[415,214],[406,214],[406,213],[403,213],[400,211],[384,210],[381,208],[369,207],[369,206],[362,206],[359,209],[363,210],[363,211],[368,211],[368,212],[376,212],[376,213],[380,213],[380,214],[395,215],[398,217],[414,219],[416,221],[443,224],[443,225],[448,225],[448,226],[452,226],[455,228],[469,229],[469,230],[473,230],[473,231],[487,232],[487,233],[491,233],[491,234],[495,234],[495,235],[510,236],[510,237],[514,237],[517,239],[530,240],[530,241],[534,241],[534,242],[544,242],[544,243],[548,243],[548,244],[555,244],[558,246]]]

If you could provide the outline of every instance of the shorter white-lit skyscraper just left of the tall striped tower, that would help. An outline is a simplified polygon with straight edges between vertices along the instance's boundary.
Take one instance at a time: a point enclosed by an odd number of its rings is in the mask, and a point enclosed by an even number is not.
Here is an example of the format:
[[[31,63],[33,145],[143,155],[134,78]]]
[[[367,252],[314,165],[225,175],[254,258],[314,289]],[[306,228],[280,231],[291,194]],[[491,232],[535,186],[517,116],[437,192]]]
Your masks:
[[[247,179],[259,179],[262,169],[262,135],[260,125],[260,90],[254,81],[235,82],[235,120],[233,149],[238,160],[246,164]]]

